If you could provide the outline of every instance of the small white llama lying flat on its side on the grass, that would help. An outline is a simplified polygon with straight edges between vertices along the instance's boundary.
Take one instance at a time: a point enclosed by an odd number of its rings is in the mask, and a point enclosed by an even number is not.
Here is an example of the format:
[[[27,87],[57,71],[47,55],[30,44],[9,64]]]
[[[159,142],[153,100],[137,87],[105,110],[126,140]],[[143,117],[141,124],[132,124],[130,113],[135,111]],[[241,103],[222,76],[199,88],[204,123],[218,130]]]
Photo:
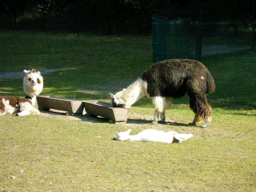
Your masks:
[[[154,130],[154,129],[146,129],[142,132],[138,133],[137,135],[129,135],[131,129],[120,132],[114,140],[121,140],[121,141],[143,141],[143,142],[162,142],[162,143],[180,143],[183,140],[187,140],[193,135],[190,134],[180,134],[174,131],[164,132],[161,130]]]

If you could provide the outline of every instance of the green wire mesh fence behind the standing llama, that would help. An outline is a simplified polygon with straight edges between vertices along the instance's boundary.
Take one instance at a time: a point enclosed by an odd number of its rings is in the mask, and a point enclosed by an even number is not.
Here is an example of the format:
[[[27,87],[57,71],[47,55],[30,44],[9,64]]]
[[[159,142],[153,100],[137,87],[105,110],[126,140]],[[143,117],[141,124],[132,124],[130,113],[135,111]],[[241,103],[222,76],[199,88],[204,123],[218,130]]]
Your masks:
[[[256,47],[252,21],[192,22],[153,16],[153,62],[195,59],[211,72],[209,98],[256,104]]]

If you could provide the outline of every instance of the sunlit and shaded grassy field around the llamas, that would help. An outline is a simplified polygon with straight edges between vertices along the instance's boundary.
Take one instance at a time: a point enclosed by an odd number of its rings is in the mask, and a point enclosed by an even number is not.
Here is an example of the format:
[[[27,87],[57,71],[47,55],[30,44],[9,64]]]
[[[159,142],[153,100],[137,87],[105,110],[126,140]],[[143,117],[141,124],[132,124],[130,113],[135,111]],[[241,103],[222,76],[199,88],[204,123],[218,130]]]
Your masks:
[[[36,68],[41,95],[107,99],[152,64],[152,38],[0,32],[0,73]],[[22,78],[0,79],[0,95],[24,96]],[[42,112],[0,116],[0,191],[3,192],[256,192],[256,110],[209,100],[208,128],[189,126],[189,98],[173,100],[166,123],[151,125],[154,109],[142,98],[128,123]],[[180,144],[113,138],[153,128],[194,137]]]

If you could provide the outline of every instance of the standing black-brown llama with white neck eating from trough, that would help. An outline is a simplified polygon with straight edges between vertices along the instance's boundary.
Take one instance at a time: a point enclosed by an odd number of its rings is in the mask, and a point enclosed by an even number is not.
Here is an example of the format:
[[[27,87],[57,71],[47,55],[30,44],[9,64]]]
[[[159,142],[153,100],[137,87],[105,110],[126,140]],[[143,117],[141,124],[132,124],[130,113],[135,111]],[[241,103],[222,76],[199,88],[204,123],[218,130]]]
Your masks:
[[[172,105],[172,97],[190,97],[190,109],[195,113],[190,125],[204,120],[203,128],[211,121],[212,109],[207,102],[206,94],[214,92],[216,86],[211,73],[201,63],[190,59],[172,59],[153,64],[140,78],[116,93],[109,94],[112,107],[129,108],[137,100],[147,95],[155,107],[154,120],[157,124],[159,113],[165,121],[165,111]]]

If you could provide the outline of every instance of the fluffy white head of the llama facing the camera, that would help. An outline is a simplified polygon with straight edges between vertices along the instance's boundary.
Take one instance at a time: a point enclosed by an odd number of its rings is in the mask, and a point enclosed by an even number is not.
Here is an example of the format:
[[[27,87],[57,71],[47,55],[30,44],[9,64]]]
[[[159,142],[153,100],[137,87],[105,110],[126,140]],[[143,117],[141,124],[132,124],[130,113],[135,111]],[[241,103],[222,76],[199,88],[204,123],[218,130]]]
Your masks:
[[[23,88],[26,95],[29,97],[35,97],[39,95],[43,90],[43,77],[39,71],[35,69],[24,70],[25,76],[23,78]]]

